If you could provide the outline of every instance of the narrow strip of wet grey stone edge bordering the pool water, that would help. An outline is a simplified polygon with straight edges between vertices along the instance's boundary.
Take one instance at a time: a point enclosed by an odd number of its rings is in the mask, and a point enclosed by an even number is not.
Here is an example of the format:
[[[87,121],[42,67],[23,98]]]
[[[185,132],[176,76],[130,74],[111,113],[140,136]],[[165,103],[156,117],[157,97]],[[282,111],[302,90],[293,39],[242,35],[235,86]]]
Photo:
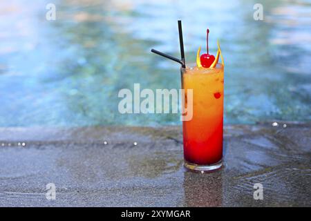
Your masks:
[[[257,124],[232,124],[224,126],[224,137],[254,134],[265,130],[267,133],[280,133],[288,128],[311,129],[310,122],[272,122]],[[182,142],[182,126],[81,126],[81,127],[0,127],[0,142],[109,142],[111,137],[119,142],[143,142],[159,137]]]

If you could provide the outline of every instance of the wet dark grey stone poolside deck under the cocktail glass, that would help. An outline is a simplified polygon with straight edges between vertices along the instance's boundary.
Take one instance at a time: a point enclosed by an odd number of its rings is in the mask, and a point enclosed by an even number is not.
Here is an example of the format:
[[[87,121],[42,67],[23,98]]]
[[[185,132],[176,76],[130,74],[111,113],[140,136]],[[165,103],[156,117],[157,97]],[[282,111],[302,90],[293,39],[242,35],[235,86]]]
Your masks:
[[[225,126],[224,144],[223,169],[201,174],[179,126],[0,128],[0,206],[311,206],[311,123]]]

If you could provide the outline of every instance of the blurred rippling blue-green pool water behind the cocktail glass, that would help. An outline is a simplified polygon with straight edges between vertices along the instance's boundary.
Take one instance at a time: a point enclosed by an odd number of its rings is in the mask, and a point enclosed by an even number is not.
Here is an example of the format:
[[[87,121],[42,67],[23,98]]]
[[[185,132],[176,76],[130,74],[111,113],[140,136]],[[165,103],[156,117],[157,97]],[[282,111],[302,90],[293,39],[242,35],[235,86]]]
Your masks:
[[[311,119],[311,3],[261,1],[0,2],[0,126],[180,124],[178,115],[121,115],[121,88],[180,88],[182,19],[186,59],[220,40],[225,57],[225,123]]]

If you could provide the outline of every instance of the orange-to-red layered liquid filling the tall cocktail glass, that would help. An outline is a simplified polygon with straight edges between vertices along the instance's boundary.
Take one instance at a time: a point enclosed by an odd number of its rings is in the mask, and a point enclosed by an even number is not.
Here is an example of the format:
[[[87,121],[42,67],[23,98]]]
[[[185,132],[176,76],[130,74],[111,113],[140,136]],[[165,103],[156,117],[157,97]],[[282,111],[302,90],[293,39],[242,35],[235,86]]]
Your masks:
[[[182,122],[185,164],[211,165],[223,158],[223,65],[182,68],[182,88],[193,89],[193,117]],[[187,97],[185,107],[189,109]]]

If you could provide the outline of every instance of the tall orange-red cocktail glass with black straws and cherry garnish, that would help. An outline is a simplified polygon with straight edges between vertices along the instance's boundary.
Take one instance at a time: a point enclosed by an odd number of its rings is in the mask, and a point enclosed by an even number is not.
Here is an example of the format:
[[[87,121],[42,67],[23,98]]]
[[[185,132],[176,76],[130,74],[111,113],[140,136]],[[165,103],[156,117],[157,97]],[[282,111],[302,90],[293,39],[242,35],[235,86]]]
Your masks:
[[[158,55],[181,64],[182,131],[185,167],[194,171],[213,171],[223,164],[223,78],[224,60],[217,41],[217,54],[209,54],[209,29],[207,52],[196,54],[196,64],[186,65],[182,40],[181,21],[178,21],[181,59],[152,49]],[[218,63],[221,58],[221,64]],[[193,95],[192,97],[188,95]],[[187,111],[186,111],[187,110]],[[192,118],[186,117],[191,110]]]

